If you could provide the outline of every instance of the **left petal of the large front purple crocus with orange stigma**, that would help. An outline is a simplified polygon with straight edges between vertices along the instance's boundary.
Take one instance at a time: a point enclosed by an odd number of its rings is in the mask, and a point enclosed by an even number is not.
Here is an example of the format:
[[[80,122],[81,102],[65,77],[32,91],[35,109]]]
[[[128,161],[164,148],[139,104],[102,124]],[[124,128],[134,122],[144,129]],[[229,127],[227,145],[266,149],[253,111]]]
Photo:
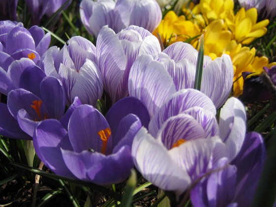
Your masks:
[[[54,173],[75,177],[66,167],[61,149],[72,150],[68,133],[55,119],[41,122],[34,133],[34,147],[39,159]]]

